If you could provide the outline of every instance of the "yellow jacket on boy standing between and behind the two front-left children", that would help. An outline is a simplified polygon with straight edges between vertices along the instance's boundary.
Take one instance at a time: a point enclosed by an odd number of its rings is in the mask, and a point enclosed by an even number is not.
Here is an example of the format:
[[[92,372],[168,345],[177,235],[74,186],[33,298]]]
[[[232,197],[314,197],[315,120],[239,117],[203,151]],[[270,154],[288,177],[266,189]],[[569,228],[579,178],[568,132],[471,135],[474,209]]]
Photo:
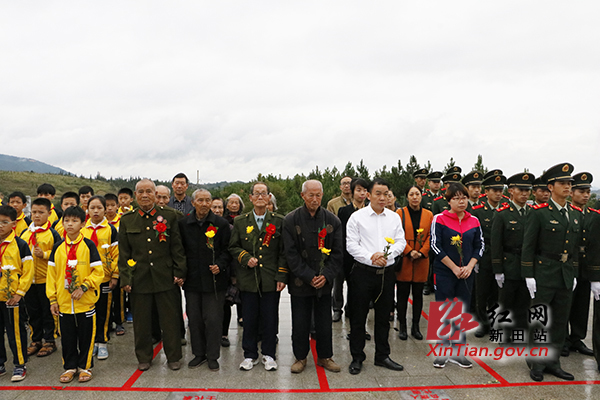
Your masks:
[[[32,223],[29,228],[23,231],[21,239],[27,242],[27,247],[29,247],[33,257],[33,281],[31,283],[46,283],[48,259],[52,254],[54,245],[61,241],[60,235],[50,227],[50,221],[48,221],[41,227],[37,227]],[[42,249],[44,252],[43,257],[35,256],[33,253],[34,245]]]

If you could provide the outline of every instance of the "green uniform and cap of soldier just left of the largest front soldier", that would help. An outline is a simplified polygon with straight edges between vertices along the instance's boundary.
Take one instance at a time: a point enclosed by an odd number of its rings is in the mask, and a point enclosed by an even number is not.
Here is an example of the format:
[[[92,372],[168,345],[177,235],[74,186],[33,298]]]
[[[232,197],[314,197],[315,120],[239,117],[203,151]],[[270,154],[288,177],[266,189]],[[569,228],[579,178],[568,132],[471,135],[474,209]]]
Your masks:
[[[508,178],[506,183],[509,187],[531,190],[534,178],[532,174],[521,172]],[[520,208],[512,201],[500,207],[492,220],[490,246],[494,274],[504,278],[499,293],[500,304],[502,309],[510,311],[514,328],[524,334],[530,298],[521,276],[521,250],[529,210],[527,204]],[[510,339],[514,341],[514,335],[510,333]],[[527,336],[524,335],[523,340],[526,341]]]

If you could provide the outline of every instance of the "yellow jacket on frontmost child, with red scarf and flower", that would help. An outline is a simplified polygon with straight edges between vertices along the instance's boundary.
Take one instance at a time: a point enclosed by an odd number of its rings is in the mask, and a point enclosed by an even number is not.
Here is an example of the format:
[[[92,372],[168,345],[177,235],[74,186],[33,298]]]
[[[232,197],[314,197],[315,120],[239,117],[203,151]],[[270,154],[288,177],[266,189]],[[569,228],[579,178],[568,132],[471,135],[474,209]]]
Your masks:
[[[88,290],[79,300],[73,300],[67,287],[66,269],[68,254],[75,246],[77,265],[72,278],[73,286],[86,286]],[[69,238],[54,247],[48,260],[48,276],[46,278],[46,296],[50,304],[58,304],[63,314],[80,314],[94,309],[100,297],[100,284],[104,277],[102,260],[98,249],[89,239],[79,234],[77,239]]]

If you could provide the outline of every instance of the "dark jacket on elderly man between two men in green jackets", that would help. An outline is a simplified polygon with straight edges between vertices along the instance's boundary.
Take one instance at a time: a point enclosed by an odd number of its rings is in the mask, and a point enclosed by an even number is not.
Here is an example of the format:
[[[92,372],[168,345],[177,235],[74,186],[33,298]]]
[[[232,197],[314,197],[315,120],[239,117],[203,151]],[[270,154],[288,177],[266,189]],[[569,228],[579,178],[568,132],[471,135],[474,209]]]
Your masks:
[[[213,238],[214,264],[219,266],[221,272],[216,275],[213,275],[208,267],[213,264],[213,249],[208,247],[206,236],[206,231],[211,225],[217,228]],[[215,287],[217,291],[226,290],[229,280],[228,267],[231,263],[231,255],[227,250],[231,236],[229,223],[212,211],[208,212],[203,222],[199,222],[196,219],[196,210],[193,210],[179,220],[179,229],[188,266],[183,289],[202,293],[214,292]]]

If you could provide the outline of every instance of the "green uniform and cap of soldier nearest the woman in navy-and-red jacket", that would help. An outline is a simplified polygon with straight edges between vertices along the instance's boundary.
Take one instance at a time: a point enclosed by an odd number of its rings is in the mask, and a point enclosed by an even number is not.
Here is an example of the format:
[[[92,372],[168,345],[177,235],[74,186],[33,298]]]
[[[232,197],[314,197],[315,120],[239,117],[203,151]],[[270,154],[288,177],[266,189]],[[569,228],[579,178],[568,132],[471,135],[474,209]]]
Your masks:
[[[486,188],[504,189],[506,178],[504,175],[490,176],[487,181],[484,181]],[[479,268],[475,276],[475,312],[479,320],[479,328],[475,332],[477,337],[485,336],[490,330],[490,322],[487,317],[487,309],[498,301],[498,285],[494,277],[492,269],[492,220],[496,209],[501,207],[498,204],[494,208],[489,201],[483,201],[480,205],[474,206],[471,214],[473,214],[481,225],[483,233],[484,251],[483,256],[479,260]]]

